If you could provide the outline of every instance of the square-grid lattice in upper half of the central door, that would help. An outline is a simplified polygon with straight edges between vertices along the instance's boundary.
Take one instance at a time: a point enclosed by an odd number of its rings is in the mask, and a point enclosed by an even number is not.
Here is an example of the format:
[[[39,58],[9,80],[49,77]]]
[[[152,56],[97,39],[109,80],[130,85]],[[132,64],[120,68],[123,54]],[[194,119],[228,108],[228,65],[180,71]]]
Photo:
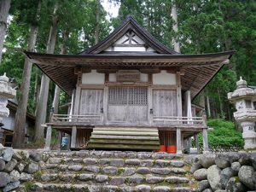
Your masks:
[[[109,87],[110,105],[148,105],[147,87]]]

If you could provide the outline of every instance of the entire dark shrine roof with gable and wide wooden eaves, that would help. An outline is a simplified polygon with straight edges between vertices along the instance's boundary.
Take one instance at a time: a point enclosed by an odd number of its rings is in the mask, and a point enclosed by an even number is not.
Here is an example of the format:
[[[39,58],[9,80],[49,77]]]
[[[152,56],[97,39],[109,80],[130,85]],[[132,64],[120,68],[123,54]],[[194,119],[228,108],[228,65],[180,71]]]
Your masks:
[[[142,38],[150,47],[157,51],[156,54],[147,52],[109,52],[103,53],[104,49],[114,44],[125,32],[132,30],[139,38]],[[84,50],[79,55],[50,55],[26,52],[25,54],[41,70],[55,81],[62,90],[71,95],[77,83],[74,74],[76,67],[86,68],[115,68],[115,69],[141,69],[141,68],[172,68],[179,67],[184,71],[181,83],[183,90],[191,90],[194,98],[216,73],[230,59],[234,51],[202,54],[182,55],[167,48],[157,41],[142,26],[137,24],[131,15],[117,27],[107,38],[99,44]]]

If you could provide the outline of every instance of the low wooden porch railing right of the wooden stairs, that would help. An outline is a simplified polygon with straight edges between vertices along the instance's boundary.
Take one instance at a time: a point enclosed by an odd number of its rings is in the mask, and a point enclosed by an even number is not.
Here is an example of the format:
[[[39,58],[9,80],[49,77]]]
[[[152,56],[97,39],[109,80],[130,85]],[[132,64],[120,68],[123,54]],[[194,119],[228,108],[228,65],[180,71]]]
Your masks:
[[[170,124],[205,125],[203,117],[153,116],[153,122]]]

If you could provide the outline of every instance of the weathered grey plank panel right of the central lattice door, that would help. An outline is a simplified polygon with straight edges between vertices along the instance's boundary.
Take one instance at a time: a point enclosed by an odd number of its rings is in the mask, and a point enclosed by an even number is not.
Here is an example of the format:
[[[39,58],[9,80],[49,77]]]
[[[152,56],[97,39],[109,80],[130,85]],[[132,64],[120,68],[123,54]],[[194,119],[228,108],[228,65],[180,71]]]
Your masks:
[[[176,90],[153,90],[153,119],[172,119],[170,117],[177,116],[176,101]],[[156,124],[170,122],[154,121]]]

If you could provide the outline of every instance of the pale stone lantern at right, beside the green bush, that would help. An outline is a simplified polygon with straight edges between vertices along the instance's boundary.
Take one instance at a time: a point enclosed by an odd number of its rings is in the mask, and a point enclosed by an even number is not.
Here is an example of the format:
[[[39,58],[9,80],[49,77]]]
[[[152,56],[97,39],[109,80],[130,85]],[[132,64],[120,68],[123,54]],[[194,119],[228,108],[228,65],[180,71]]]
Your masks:
[[[256,148],[256,90],[247,86],[247,81],[241,79],[236,82],[236,90],[228,93],[228,99],[236,105],[234,117],[241,125],[244,148]]]

